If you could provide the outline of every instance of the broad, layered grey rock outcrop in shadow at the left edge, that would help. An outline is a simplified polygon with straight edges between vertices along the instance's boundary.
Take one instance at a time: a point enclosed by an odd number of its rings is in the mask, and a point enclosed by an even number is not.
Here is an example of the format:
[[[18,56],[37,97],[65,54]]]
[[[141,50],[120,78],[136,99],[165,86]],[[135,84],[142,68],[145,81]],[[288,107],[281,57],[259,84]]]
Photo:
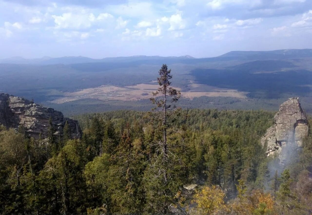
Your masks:
[[[23,126],[27,136],[45,138],[50,128],[50,117],[55,135],[63,134],[66,121],[71,136],[80,138],[81,130],[76,120],[64,118],[63,114],[50,107],[37,105],[27,99],[0,93],[0,124],[7,128]]]

